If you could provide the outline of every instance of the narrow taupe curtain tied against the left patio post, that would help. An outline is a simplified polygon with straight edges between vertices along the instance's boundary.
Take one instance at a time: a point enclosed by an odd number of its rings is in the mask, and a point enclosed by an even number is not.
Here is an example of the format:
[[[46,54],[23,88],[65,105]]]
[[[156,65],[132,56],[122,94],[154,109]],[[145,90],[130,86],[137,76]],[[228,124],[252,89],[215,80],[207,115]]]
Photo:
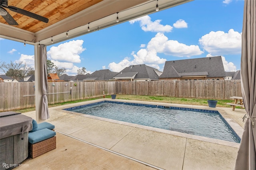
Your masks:
[[[48,100],[47,100],[47,91],[48,91],[48,83],[47,83],[47,52],[46,46],[40,45],[40,74],[42,77],[42,109],[41,109],[41,119],[46,120],[49,119],[49,109],[48,109]]]

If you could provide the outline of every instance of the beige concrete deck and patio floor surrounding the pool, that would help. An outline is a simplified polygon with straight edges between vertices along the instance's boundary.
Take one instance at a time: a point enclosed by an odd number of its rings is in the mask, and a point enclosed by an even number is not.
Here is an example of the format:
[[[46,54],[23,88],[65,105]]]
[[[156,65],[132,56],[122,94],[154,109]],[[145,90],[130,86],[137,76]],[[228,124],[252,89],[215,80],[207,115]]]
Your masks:
[[[50,119],[57,132],[57,148],[26,159],[28,169],[234,169],[239,143],[199,137],[133,123],[95,118],[62,110],[103,100],[99,99],[50,107]],[[245,109],[180,105],[158,102],[118,100],[161,106],[218,110],[241,137]],[[33,119],[35,111],[23,113]],[[138,162],[136,162],[138,161]],[[148,165],[144,165],[144,162]],[[152,167],[151,167],[152,165]],[[24,168],[17,167],[16,169]]]

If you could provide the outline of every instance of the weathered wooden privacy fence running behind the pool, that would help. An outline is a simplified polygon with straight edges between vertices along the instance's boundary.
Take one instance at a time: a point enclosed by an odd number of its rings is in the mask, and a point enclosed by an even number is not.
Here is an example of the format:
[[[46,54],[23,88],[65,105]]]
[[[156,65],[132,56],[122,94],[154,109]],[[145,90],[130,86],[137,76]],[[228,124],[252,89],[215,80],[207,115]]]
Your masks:
[[[35,107],[34,85],[34,82],[1,82],[0,111]],[[48,104],[100,97],[103,91],[106,95],[131,94],[215,100],[242,96],[240,80],[48,82]]]

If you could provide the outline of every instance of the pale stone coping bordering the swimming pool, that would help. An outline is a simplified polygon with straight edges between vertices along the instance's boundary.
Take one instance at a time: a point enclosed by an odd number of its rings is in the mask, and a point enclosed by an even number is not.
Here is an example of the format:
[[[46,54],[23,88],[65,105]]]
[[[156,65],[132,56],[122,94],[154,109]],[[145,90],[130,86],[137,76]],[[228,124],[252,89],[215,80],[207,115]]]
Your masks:
[[[230,127],[236,132],[236,134],[240,138],[242,137],[242,133],[243,133],[243,128],[236,121],[234,121],[234,119],[232,117],[230,117],[230,115],[228,115],[228,113],[226,113],[226,111],[224,109],[222,109],[222,107],[207,107],[207,106],[172,104],[172,103],[161,103],[161,102],[145,102],[145,101],[136,101],[136,100],[122,100],[122,99],[108,99],[108,98],[98,99],[98,100],[90,100],[90,101],[86,101],[83,103],[78,103],[77,105],[72,105],[72,107],[86,105],[86,104],[93,104],[93,103],[101,102],[101,101],[115,101],[115,102],[126,102],[126,103],[134,103],[134,104],[146,104],[146,105],[149,104],[149,105],[159,105],[159,106],[166,106],[166,107],[184,107],[184,108],[192,108],[192,109],[218,111],[220,113],[220,115],[222,115],[222,117],[226,120],[226,122],[230,125]],[[198,135],[191,135],[191,134],[187,134],[187,133],[180,133],[180,132],[176,132],[176,131],[170,131],[170,130],[160,129],[160,128],[156,128],[156,127],[149,127],[149,126],[145,126],[145,125],[138,125],[135,123],[128,123],[128,122],[124,122],[124,121],[118,121],[118,120],[107,119],[107,118],[102,118],[102,117],[96,117],[96,116],[92,116],[92,115],[86,115],[83,113],[76,113],[76,112],[64,110],[65,108],[69,108],[69,107],[63,106],[62,108],[59,108],[59,109],[63,112],[73,114],[73,115],[88,117],[91,119],[97,119],[97,120],[101,120],[101,121],[108,121],[111,123],[117,123],[117,124],[126,125],[126,126],[130,126],[130,127],[136,127],[136,128],[146,129],[146,130],[150,130],[150,131],[166,133],[166,134],[170,134],[170,135],[176,135],[176,136],[185,137],[185,138],[189,138],[189,139],[195,139],[198,141],[215,143],[215,144],[229,146],[229,147],[235,147],[235,148],[239,148],[239,146],[240,146],[240,143],[224,141],[224,140],[220,140],[220,139],[213,139],[213,138],[209,138],[209,137],[202,137],[202,136],[198,136]]]

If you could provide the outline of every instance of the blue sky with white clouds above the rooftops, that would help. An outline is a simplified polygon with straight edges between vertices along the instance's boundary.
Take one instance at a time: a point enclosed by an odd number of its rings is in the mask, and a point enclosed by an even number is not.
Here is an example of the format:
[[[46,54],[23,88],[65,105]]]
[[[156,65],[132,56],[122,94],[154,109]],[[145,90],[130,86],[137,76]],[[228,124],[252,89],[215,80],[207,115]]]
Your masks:
[[[222,56],[225,71],[240,70],[243,0],[194,0],[47,47],[48,59],[66,74],[165,61]],[[34,67],[34,46],[0,38],[0,61]],[[2,73],[1,73],[2,74]]]

